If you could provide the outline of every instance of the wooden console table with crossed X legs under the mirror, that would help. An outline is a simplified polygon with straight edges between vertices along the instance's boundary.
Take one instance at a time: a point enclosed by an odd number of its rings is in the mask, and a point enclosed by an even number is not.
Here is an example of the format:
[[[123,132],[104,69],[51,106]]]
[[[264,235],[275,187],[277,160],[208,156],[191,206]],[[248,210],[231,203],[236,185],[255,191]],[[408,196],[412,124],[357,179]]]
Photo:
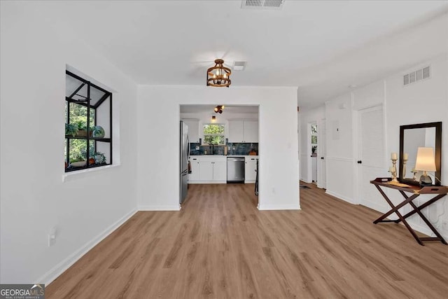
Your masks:
[[[416,239],[416,242],[419,242],[420,245],[424,246],[423,241],[440,241],[445,245],[448,245],[447,241],[440,235],[439,232],[434,228],[434,226],[428,221],[428,219],[421,213],[421,210],[428,207],[430,204],[433,204],[434,202],[437,202],[437,200],[440,200],[440,198],[444,197],[448,193],[448,187],[447,186],[409,186],[402,183],[393,183],[391,178],[377,178],[373,181],[370,181],[370,183],[374,184],[375,187],[377,187],[379,193],[383,195],[386,202],[391,206],[391,210],[388,211],[386,214],[379,217],[377,220],[373,221],[374,224],[377,224],[379,222],[394,222],[394,223],[400,223],[402,222],[407,230],[411,232],[414,239]],[[392,188],[398,190],[401,195],[404,197],[404,200],[398,204],[394,205],[391,200],[387,197],[387,195],[384,193],[384,191],[381,189],[383,188]],[[412,193],[412,195],[408,196],[406,193]],[[415,200],[416,197],[419,197],[421,194],[433,194],[435,195],[432,199],[428,200],[428,202],[425,202],[424,204],[421,204],[419,207],[412,202],[412,200]],[[410,204],[412,207],[412,211],[409,211],[409,213],[405,214],[404,216],[400,214],[400,211],[398,209],[404,207],[406,204]],[[387,216],[391,214],[397,214],[398,219],[397,220],[384,220]],[[434,232],[434,234],[437,237],[419,237],[416,235],[415,231],[411,228],[411,226],[407,223],[406,218],[409,216],[412,216],[414,214],[419,214],[421,219],[428,225],[430,230]]]

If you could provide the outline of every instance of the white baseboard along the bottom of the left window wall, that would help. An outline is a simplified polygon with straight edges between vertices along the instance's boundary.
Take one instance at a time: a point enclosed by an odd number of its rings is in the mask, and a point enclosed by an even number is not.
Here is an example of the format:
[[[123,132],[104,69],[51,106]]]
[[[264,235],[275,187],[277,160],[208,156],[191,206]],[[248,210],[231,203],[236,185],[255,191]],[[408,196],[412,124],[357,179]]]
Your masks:
[[[129,218],[134,216],[134,214],[137,213],[137,209],[134,209],[127,213],[122,218],[118,219],[115,223],[109,226],[109,228],[106,228],[103,232],[101,232],[97,237],[94,237],[91,241],[87,242],[84,246],[82,246],[77,251],[73,252],[70,256],[62,260],[60,263],[55,265],[55,267],[52,267],[48,272],[43,274],[43,276],[36,281],[41,281],[45,286],[48,286],[53,280],[55,280],[57,277],[59,277],[60,274],[62,274],[65,270],[69,269],[71,265],[76,263],[77,260],[82,258],[85,253],[90,251],[94,246],[97,246],[99,242],[102,242],[104,238],[111,235],[111,233],[120,227],[123,223],[125,223]]]

